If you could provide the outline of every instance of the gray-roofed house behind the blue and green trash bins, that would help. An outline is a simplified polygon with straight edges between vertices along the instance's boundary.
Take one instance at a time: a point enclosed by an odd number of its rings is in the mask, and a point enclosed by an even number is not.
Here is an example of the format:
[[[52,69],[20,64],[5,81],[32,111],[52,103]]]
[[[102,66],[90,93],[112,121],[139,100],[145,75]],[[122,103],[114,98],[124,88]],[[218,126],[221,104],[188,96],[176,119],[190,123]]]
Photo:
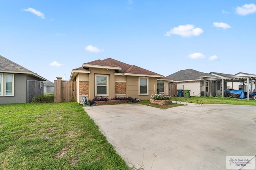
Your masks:
[[[180,70],[166,77],[172,79],[169,83],[172,96],[177,96],[176,90],[190,90],[190,96],[203,96],[204,89],[206,89],[206,95],[209,95],[209,85],[208,82],[204,85],[204,79],[216,78],[212,74],[193,69]]]

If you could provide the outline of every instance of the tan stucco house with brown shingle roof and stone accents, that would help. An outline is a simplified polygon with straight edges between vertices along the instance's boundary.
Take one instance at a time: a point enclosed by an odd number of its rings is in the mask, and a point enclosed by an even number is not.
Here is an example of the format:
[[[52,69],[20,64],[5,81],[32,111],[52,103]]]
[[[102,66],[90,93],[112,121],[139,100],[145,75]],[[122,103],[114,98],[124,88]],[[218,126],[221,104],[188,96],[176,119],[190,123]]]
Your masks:
[[[168,94],[168,82],[171,81],[155,72],[111,58],[82,64],[72,70],[70,80],[76,80],[77,102],[81,95],[89,100],[115,96],[148,100],[157,92]]]

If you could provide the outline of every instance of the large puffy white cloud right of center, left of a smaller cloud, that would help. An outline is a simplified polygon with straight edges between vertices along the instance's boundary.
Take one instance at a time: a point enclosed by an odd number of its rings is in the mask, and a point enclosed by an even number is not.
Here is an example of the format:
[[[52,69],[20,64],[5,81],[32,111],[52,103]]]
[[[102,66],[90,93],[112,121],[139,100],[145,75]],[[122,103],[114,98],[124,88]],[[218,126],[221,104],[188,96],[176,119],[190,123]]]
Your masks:
[[[165,36],[171,36],[171,34],[180,35],[181,37],[191,37],[198,36],[203,33],[201,28],[195,28],[194,25],[179,25],[178,27],[172,28],[170,31],[167,31]]]

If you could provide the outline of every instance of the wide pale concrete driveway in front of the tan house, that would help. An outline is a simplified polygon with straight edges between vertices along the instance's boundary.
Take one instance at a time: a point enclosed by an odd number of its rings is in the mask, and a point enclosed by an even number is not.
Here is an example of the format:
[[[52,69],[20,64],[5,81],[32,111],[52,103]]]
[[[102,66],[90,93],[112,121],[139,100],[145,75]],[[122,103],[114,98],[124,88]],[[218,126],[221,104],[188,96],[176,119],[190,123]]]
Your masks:
[[[139,104],[84,107],[129,166],[226,169],[226,156],[256,155],[256,106]]]

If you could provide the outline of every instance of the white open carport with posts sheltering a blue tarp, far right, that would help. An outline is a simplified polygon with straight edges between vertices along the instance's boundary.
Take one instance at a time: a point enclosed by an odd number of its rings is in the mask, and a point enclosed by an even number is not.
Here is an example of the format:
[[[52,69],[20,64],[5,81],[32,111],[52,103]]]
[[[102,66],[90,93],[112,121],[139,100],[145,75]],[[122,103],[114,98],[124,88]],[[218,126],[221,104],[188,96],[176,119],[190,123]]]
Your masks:
[[[222,97],[224,97],[224,88],[226,82],[243,82],[243,84],[247,84],[246,92],[249,94],[249,84],[250,82],[255,83],[256,75],[250,76],[234,76],[234,77],[223,77],[223,78],[206,78],[204,79],[204,97],[206,97],[206,82],[209,84],[209,88],[211,88],[211,82],[222,82]],[[247,95],[247,100],[249,100],[249,95]]]

